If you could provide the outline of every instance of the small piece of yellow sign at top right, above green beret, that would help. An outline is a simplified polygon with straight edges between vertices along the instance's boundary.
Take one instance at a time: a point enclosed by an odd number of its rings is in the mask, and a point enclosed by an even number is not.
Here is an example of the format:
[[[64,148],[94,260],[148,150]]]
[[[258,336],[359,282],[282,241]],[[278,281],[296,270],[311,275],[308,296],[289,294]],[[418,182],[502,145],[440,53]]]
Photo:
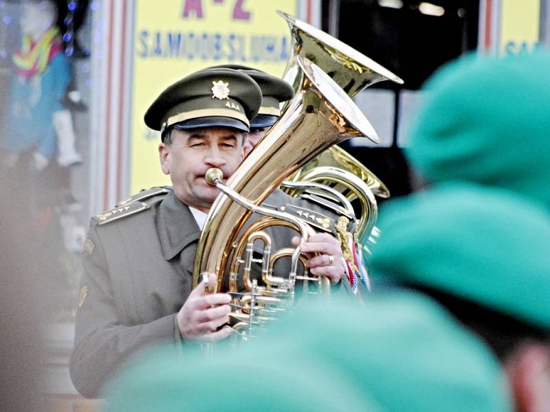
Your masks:
[[[500,53],[529,52],[539,41],[540,0],[502,0]]]

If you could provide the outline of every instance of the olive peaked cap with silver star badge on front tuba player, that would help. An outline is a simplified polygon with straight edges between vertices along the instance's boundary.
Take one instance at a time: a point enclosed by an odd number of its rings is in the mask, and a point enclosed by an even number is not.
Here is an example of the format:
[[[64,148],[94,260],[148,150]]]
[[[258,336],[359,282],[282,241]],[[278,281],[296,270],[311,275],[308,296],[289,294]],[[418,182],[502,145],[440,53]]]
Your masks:
[[[262,101],[250,76],[226,68],[202,69],[168,86],[145,113],[145,124],[164,132],[223,126],[248,132]],[[164,134],[163,134],[164,135]]]

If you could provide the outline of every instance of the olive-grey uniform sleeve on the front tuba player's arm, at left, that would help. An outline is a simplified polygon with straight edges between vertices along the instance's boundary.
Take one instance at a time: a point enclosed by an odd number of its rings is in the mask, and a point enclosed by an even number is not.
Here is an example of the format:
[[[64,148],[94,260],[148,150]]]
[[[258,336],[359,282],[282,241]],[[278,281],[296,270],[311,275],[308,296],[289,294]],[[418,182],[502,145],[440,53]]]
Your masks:
[[[175,350],[181,349],[181,341],[176,314],[144,325],[121,323],[96,227],[91,227],[86,243],[69,369],[78,392],[87,398],[98,398],[102,386],[131,355],[166,341],[173,342]]]

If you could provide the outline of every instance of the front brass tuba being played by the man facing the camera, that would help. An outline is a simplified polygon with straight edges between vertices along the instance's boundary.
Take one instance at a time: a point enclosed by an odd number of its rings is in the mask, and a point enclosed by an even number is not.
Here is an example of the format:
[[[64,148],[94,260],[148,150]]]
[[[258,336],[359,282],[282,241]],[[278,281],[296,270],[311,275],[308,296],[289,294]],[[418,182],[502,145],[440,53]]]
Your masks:
[[[310,230],[298,218],[287,216],[279,211],[266,210],[259,206],[280,185],[289,174],[300,166],[314,159],[320,152],[333,144],[344,141],[351,136],[366,136],[377,142],[378,136],[359,108],[351,101],[327,73],[311,63],[307,58],[297,56],[296,61],[302,73],[300,87],[288,108],[267,135],[252,150],[250,155],[239,165],[226,185],[216,172],[209,176],[210,182],[216,184],[223,192],[210,208],[210,213],[203,227],[197,246],[197,258],[193,271],[193,286],[201,281],[204,273],[217,273],[217,285],[220,292],[224,284],[225,268],[231,268],[230,279],[237,275],[239,266],[250,261],[232,253],[236,246],[237,236],[245,227],[252,211],[259,211],[267,217],[259,220],[251,238],[265,238],[261,228],[264,225],[287,225],[300,232],[305,241]],[[252,249],[245,239],[245,249]],[[292,270],[288,280],[270,277],[272,265],[276,258],[292,256]],[[265,288],[258,289],[254,282],[245,282],[246,291],[240,295],[233,293],[234,307],[238,308],[232,316],[243,322],[252,323],[250,309],[254,300],[292,295],[296,280],[296,265],[300,256],[299,247],[294,251],[285,251],[282,255],[272,253],[262,262],[263,282]],[[233,262],[230,262],[232,257]],[[307,273],[305,273],[307,277]],[[306,279],[317,280],[322,279]],[[231,284],[231,282],[230,282]]]

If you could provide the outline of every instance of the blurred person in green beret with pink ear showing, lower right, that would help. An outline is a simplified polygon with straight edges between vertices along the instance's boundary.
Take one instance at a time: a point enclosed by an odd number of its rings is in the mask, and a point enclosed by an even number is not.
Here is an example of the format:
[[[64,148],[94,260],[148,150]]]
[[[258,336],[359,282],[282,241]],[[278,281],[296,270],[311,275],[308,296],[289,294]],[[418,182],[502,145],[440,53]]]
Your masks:
[[[550,410],[550,218],[513,192],[447,183],[388,203],[372,267],[492,349],[516,411]]]

